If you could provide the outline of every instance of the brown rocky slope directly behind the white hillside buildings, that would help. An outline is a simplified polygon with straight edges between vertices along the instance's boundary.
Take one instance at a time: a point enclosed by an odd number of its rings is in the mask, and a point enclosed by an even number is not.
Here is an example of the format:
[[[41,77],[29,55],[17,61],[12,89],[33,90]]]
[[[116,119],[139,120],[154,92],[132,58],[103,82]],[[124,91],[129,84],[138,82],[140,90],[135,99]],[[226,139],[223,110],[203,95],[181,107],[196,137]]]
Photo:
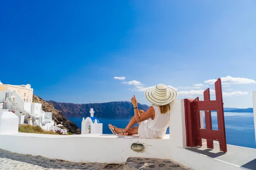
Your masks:
[[[52,112],[52,120],[54,120],[54,122],[56,122],[57,125],[63,125],[64,129],[67,129],[67,132],[71,132],[73,134],[81,134],[79,127],[75,123],[71,122],[70,120],[62,116],[62,112],[55,109],[51,103],[46,102],[44,99],[41,99],[35,94],[33,94],[33,102],[41,103],[43,111]]]

